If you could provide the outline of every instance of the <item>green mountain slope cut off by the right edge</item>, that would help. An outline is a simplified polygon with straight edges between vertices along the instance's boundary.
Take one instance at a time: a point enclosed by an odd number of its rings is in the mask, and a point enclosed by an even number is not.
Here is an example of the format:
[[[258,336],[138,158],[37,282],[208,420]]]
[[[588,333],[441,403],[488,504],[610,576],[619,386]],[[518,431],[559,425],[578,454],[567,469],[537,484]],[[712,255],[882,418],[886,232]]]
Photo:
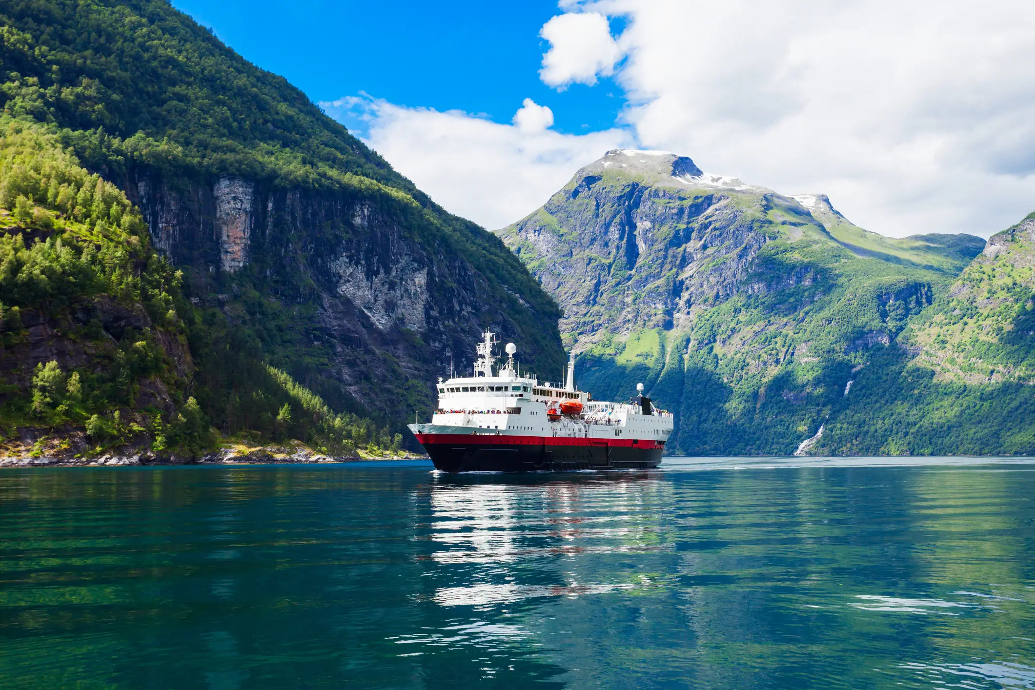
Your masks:
[[[1035,213],[855,377],[815,452],[1035,452]]]

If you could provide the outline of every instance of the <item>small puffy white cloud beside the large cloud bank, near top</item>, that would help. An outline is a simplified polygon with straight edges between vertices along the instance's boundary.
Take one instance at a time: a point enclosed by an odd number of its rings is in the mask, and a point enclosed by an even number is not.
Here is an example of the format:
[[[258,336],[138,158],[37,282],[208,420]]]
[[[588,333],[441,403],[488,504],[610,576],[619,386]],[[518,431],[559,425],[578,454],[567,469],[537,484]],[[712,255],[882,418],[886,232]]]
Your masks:
[[[621,58],[608,18],[597,12],[559,14],[543,25],[539,35],[551,43],[539,77],[553,87],[596,84],[597,74],[610,76]]]

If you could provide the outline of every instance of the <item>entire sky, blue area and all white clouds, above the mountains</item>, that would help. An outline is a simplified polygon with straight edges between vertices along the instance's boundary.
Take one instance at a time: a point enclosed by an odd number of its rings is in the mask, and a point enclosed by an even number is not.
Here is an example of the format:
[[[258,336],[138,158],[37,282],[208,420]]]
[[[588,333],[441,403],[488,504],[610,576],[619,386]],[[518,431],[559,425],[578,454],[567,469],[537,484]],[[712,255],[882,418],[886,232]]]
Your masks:
[[[173,0],[490,230],[614,148],[903,237],[1035,210],[1031,0]]]

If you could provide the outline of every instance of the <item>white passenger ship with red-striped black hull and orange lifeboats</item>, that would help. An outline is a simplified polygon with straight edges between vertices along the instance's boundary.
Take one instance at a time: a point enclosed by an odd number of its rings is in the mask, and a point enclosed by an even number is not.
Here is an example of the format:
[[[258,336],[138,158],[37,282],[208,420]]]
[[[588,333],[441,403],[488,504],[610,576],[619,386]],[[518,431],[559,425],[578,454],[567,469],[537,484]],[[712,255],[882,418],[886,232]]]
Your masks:
[[[570,472],[656,468],[672,414],[637,384],[629,402],[594,400],[575,388],[574,353],[564,385],[522,376],[512,342],[494,355],[496,334],[477,344],[473,376],[438,381],[431,423],[410,424],[436,469],[460,472]]]

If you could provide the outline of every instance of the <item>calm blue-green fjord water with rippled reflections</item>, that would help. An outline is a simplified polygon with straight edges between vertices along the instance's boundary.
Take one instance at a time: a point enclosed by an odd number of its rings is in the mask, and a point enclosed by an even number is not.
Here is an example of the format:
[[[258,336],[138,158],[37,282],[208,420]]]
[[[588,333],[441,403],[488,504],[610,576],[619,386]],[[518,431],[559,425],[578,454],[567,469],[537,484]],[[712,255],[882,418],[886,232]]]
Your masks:
[[[0,473],[0,687],[1035,688],[1035,466]]]

